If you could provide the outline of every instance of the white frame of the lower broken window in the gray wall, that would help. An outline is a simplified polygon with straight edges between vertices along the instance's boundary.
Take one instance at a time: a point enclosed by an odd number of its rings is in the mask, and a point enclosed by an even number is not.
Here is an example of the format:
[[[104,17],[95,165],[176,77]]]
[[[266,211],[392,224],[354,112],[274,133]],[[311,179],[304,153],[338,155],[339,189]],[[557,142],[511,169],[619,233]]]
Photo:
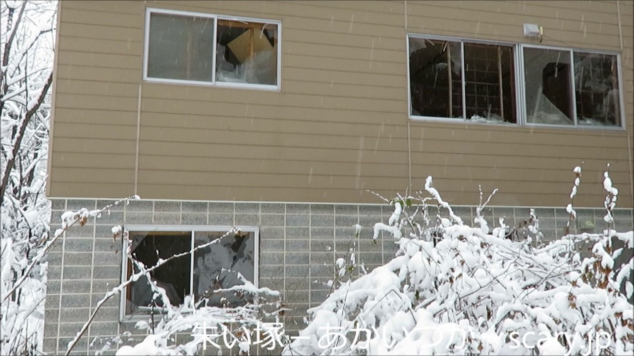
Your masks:
[[[126,232],[134,232],[134,231],[191,231],[191,241],[193,247],[193,241],[196,232],[228,232],[233,229],[233,226],[207,226],[207,225],[126,225],[124,226],[124,230]],[[240,231],[242,232],[252,232],[254,236],[254,247],[253,247],[253,284],[256,288],[259,285],[259,259],[260,259],[260,229],[256,226],[245,226],[240,227]],[[128,242],[127,239],[123,239],[123,247],[122,247],[122,267],[121,267],[121,282],[125,282],[128,279],[128,258],[127,258],[127,248]],[[191,274],[190,274],[190,293],[192,293],[193,289],[193,266],[194,266],[194,255],[190,253],[190,266],[191,266]],[[126,315],[126,300],[127,300],[127,288],[124,288],[120,293],[120,302],[119,302],[119,322],[124,321],[139,321],[146,320],[148,315],[145,314],[134,314],[134,315]]]

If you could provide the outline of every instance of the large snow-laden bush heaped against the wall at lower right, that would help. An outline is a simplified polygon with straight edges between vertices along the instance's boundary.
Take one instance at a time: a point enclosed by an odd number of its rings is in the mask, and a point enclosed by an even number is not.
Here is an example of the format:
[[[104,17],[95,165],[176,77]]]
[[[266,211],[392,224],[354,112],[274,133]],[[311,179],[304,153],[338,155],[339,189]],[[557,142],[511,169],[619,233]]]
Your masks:
[[[581,168],[574,173],[571,199]],[[609,172],[604,188],[611,223],[618,190]],[[471,227],[442,200],[431,177],[425,191],[431,197],[418,192],[390,201],[388,224],[374,227],[375,238],[383,231],[397,240],[396,257],[309,309],[307,327],[286,355],[632,354],[634,257],[615,265],[623,248],[612,242],[632,248],[634,232],[567,233],[546,244],[534,211],[517,227],[500,219],[489,229],[481,203]],[[429,216],[432,200],[445,217]],[[572,203],[568,212],[574,219]],[[586,243],[592,251],[583,258]]]

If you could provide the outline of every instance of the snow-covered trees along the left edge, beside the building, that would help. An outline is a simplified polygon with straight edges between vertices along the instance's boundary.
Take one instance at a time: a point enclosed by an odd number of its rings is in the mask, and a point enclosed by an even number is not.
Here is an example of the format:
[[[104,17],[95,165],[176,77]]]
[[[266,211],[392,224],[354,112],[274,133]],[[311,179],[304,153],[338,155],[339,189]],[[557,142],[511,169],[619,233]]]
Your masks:
[[[29,268],[48,236],[44,196],[56,1],[0,2],[2,355],[39,348],[46,264]]]

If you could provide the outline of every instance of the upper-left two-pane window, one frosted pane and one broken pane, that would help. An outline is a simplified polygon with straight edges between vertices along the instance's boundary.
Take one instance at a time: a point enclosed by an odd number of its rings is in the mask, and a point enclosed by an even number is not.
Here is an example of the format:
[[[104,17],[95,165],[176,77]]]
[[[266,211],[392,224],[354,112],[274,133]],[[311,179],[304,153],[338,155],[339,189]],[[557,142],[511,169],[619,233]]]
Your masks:
[[[280,22],[148,9],[144,78],[277,89]]]

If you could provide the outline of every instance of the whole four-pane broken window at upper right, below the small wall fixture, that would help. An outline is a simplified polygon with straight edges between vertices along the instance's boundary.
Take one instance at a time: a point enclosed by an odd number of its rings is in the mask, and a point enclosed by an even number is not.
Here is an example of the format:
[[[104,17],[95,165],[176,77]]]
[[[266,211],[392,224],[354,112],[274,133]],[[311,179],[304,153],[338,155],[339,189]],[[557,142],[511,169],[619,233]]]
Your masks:
[[[410,117],[622,129],[619,56],[408,36]]]

